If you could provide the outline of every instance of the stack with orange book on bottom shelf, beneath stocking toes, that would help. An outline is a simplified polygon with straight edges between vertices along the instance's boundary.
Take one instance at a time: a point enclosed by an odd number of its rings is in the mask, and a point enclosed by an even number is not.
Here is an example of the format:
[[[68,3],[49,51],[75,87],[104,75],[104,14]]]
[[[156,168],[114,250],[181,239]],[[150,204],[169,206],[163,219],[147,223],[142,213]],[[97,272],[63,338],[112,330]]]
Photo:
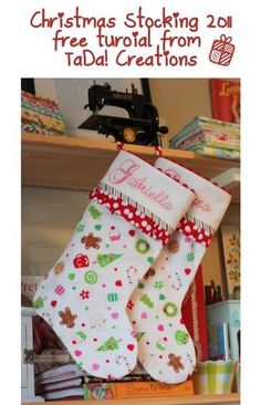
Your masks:
[[[62,364],[35,376],[36,394],[45,401],[83,398],[142,398],[194,394],[192,381],[165,384],[153,381],[137,366],[121,380],[103,380],[87,375],[75,363]]]

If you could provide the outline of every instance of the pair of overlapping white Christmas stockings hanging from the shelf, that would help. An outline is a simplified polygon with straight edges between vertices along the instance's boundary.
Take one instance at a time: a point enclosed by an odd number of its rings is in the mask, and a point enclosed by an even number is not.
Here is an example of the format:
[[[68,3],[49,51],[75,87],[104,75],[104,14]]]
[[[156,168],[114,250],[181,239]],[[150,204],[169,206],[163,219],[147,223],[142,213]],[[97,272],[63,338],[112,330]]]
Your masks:
[[[92,375],[119,378],[138,356],[155,380],[187,380],[196,356],[180,308],[230,196],[167,159],[153,167],[122,150],[90,197],[36,313]]]

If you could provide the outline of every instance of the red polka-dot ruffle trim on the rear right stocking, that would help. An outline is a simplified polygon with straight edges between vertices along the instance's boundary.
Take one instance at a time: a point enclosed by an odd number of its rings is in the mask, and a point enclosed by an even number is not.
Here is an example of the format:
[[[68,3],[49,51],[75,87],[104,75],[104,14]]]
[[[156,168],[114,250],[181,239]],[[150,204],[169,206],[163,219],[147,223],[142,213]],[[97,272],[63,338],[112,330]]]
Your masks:
[[[215,230],[209,225],[195,218],[188,212],[180,219],[176,231],[206,246],[206,248],[209,247],[215,233]]]

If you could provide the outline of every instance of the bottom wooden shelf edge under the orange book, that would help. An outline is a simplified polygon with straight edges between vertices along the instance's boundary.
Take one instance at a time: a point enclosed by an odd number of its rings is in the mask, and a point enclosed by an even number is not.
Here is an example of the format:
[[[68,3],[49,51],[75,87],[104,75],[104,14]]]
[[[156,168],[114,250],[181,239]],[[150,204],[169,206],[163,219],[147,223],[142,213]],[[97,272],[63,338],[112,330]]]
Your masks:
[[[191,395],[191,396],[177,396],[177,397],[163,397],[163,398],[129,398],[129,399],[106,399],[101,401],[88,401],[87,404],[93,405],[239,405],[239,394],[223,394],[223,395]],[[74,399],[74,401],[49,401],[48,405],[83,405],[86,401]],[[22,405],[39,405],[39,403],[23,403]]]

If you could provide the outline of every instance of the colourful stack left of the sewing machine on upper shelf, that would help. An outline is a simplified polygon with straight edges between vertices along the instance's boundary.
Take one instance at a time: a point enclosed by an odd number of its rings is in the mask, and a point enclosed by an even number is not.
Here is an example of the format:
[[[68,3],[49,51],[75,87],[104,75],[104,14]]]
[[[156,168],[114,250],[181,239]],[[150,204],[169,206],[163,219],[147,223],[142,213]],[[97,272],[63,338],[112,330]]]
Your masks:
[[[65,126],[62,113],[53,100],[36,97],[31,93],[21,93],[22,132],[43,135],[64,135]]]

